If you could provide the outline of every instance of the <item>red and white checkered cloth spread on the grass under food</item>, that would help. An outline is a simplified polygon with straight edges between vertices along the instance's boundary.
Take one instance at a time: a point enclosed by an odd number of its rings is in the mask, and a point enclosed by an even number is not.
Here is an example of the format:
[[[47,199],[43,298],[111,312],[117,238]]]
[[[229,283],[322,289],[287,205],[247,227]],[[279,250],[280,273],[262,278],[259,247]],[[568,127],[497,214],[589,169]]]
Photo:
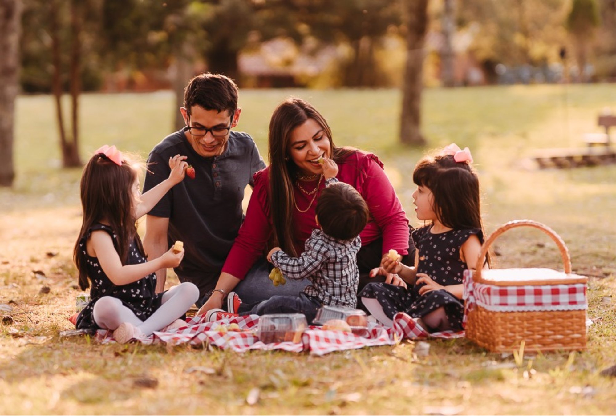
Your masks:
[[[230,331],[230,324],[237,324],[240,330]],[[294,353],[310,351],[311,354],[323,355],[333,351],[354,350],[365,346],[394,345],[403,338],[458,338],[464,332],[440,332],[428,334],[421,329],[413,318],[405,313],[396,314],[394,328],[385,328],[370,322],[366,334],[355,335],[350,332],[323,330],[318,326],[310,326],[304,331],[301,342],[277,342],[265,344],[257,337],[259,316],[238,316],[237,318],[222,319],[216,322],[202,322],[201,317],[193,317],[187,321],[188,326],[180,327],[174,332],[155,332],[154,335],[139,339],[144,344],[167,343],[179,345],[215,345],[222,350],[229,348],[237,353],[248,350],[284,350]],[[227,329],[226,331],[221,329]],[[102,343],[113,342],[111,331],[99,330],[96,339]]]

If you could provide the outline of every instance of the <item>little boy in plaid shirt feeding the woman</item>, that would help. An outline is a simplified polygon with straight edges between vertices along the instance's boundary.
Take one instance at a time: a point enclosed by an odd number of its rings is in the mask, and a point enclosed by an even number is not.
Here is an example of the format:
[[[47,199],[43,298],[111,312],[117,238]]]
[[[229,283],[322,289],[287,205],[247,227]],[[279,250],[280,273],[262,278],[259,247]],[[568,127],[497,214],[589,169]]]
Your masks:
[[[253,305],[240,303],[231,292],[229,313],[211,310],[206,314],[207,321],[238,315],[303,313],[312,322],[323,305],[357,306],[357,252],[362,245],[359,233],[368,222],[368,206],[351,185],[336,178],[326,180],[326,184],[316,209],[321,230],[312,231],[306,250],[299,257],[289,257],[274,247],[267,255],[286,278],[307,278],[312,284],[298,295],[277,295]]]

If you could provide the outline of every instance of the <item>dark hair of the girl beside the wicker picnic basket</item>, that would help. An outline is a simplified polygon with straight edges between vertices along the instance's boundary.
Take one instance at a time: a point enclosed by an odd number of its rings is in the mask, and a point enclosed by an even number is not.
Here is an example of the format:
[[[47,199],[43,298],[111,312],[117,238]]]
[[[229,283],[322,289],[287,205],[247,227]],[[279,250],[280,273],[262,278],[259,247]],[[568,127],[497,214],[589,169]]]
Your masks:
[[[428,156],[415,166],[413,182],[432,191],[432,209],[442,225],[457,230],[479,228],[485,236],[479,177],[469,162],[456,162],[451,154]]]

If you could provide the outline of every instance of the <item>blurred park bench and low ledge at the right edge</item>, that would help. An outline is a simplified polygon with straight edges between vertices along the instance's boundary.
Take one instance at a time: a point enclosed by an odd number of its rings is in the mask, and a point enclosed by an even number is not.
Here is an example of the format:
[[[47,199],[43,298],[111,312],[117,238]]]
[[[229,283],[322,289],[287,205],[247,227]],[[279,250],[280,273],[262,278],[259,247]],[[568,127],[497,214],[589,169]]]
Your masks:
[[[605,133],[588,133],[583,135],[586,148],[562,148],[539,150],[533,155],[540,169],[548,167],[571,168],[580,166],[596,166],[616,163],[616,142],[610,137],[610,127],[616,126],[616,116],[602,114],[598,125],[606,129]]]

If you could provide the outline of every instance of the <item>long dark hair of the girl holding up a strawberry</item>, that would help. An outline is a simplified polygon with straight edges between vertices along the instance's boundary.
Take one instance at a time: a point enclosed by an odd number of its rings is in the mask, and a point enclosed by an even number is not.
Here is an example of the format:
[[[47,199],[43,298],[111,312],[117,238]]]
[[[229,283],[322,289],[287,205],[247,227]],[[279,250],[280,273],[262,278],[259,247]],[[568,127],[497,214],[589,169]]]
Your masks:
[[[79,273],[79,287],[86,290],[87,281],[86,245],[80,246],[81,239],[96,223],[105,220],[117,236],[115,246],[123,264],[128,262],[128,248],[133,239],[137,239],[137,249],[144,254],[144,249],[137,234],[132,185],[137,179],[137,170],[131,162],[124,159],[121,166],[99,153],[87,162],[81,175],[81,207],[83,221],[73,260]],[[145,255],[145,254],[144,254]]]

